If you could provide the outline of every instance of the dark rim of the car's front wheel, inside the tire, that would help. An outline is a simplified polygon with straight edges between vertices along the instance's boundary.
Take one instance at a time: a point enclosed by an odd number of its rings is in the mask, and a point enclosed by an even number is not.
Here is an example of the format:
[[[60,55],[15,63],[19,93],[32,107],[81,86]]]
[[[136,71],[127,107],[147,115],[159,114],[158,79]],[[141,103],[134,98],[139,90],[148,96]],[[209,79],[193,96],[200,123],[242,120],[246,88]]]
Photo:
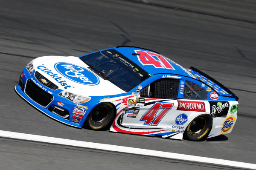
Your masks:
[[[101,106],[93,112],[91,121],[93,124],[100,124],[108,117],[108,107]]]

